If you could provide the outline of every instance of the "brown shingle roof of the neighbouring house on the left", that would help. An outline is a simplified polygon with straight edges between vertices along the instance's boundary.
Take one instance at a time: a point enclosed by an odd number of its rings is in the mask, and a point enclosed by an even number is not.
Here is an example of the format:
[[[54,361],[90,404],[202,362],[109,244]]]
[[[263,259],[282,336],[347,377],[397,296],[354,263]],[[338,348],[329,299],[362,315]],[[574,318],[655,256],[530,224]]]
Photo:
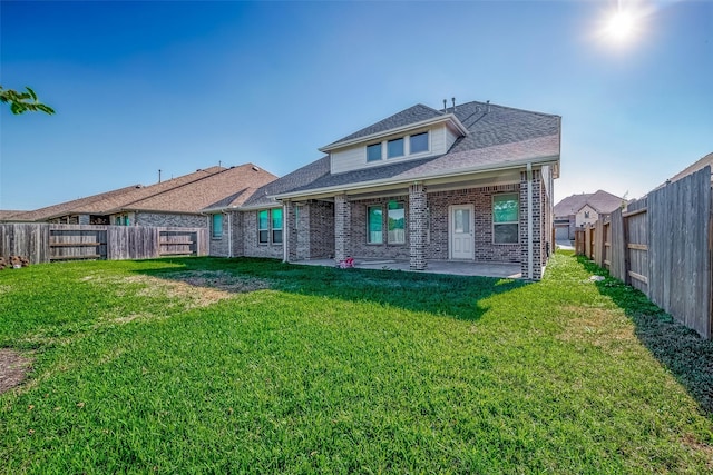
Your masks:
[[[211,167],[155,185],[134,185],[12,216],[17,221],[43,221],[67,215],[119,211],[197,214],[204,209],[241,206],[258,187],[277,177],[253,164]]]

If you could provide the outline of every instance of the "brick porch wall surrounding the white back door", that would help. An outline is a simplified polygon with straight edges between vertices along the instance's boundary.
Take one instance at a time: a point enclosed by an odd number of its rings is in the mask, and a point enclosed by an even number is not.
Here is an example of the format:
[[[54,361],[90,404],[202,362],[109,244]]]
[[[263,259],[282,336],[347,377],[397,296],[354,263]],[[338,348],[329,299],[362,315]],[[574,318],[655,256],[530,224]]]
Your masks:
[[[518,185],[500,185],[428,192],[430,226],[427,258],[441,260],[449,258],[449,207],[452,205],[473,205],[475,260],[479,263],[520,263],[519,244],[492,243],[492,196],[518,191]]]

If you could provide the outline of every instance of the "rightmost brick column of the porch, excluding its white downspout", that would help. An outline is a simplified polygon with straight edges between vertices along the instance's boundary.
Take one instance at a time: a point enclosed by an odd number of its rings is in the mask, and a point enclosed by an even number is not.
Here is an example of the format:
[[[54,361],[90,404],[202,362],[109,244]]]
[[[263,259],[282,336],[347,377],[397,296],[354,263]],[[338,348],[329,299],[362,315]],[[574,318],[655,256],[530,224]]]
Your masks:
[[[520,269],[522,278],[539,280],[543,278],[543,200],[541,176],[539,170],[533,170],[533,275],[528,276],[529,256],[527,236],[527,171],[520,174]]]

